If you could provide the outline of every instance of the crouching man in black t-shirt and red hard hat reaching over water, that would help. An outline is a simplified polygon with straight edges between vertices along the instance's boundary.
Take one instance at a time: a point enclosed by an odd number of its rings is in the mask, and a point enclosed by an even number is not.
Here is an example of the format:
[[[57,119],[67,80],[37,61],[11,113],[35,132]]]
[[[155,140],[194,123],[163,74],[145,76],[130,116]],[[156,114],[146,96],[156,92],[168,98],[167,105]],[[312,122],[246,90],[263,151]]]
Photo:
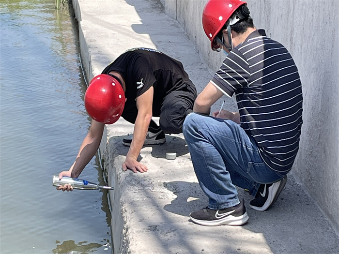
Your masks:
[[[99,148],[105,124],[120,117],[134,124],[133,138],[123,139],[129,146],[123,170],[146,172],[147,166],[137,161],[142,146],[163,144],[165,133],[182,133],[196,98],[197,90],[181,62],[154,49],[127,50],[90,82],[84,103],[91,127],[75,162],[59,178],[77,178]],[[160,126],[152,117],[159,117]],[[57,189],[72,191],[73,187],[65,184]]]

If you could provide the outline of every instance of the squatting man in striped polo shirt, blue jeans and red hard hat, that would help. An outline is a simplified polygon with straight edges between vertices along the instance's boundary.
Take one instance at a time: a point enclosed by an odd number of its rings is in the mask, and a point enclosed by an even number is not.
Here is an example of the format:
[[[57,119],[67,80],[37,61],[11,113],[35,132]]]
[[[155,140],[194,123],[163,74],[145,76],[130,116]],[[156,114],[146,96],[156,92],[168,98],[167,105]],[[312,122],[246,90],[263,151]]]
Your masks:
[[[183,127],[208,206],[190,214],[201,225],[242,225],[248,221],[236,186],[264,211],[284,188],[299,148],[302,90],[287,49],[257,30],[241,0],[209,0],[202,26],[213,50],[226,59],[198,95]],[[238,111],[210,114],[221,96],[235,94]]]

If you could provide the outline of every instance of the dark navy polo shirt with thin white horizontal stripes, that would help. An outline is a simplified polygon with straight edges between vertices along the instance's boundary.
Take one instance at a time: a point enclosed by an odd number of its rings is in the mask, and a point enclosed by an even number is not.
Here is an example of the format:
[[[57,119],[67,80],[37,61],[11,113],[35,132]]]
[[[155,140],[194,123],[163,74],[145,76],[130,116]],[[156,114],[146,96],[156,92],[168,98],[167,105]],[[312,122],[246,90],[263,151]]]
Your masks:
[[[256,141],[263,161],[289,171],[299,149],[303,96],[287,49],[256,30],[231,50],[211,83],[230,97],[235,93],[240,126]]]

